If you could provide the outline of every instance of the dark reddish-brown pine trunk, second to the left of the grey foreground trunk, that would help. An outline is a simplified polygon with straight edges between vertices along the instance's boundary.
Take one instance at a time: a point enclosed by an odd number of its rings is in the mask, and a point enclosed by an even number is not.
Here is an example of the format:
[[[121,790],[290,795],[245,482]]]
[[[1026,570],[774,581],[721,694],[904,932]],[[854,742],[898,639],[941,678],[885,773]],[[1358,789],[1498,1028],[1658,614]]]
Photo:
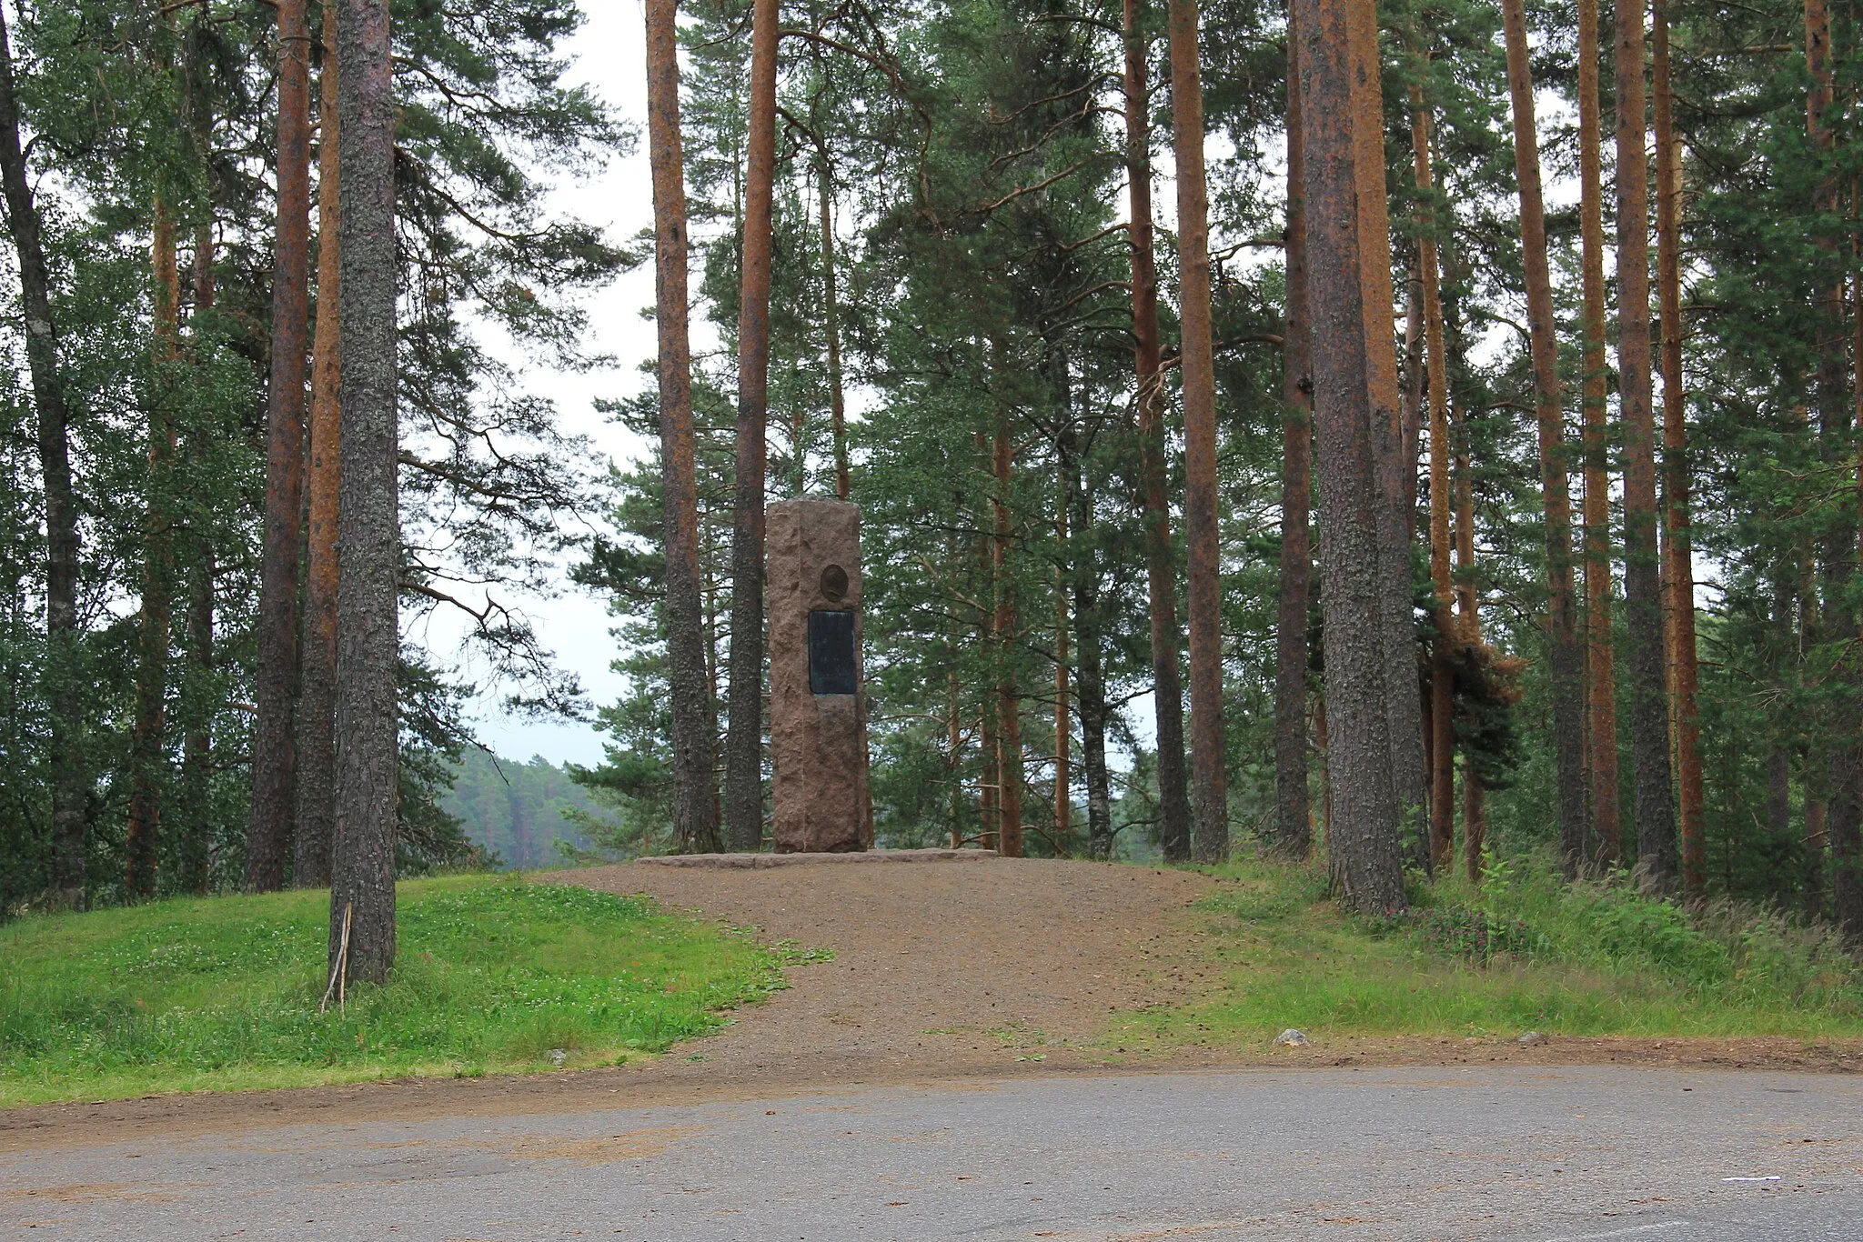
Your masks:
[[[246,890],[285,884],[296,804],[298,546],[304,540],[304,361],[311,263],[311,34],[304,0],[278,0],[278,235],[266,406],[265,562]]]

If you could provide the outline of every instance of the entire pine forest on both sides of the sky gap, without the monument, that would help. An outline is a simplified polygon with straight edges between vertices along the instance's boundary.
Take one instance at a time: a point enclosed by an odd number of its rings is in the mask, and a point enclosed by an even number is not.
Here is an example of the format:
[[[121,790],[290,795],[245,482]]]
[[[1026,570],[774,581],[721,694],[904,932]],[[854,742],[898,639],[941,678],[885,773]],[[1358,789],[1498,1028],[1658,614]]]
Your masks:
[[[602,840],[760,849],[764,505],[838,495],[883,844],[1863,938],[1854,4],[643,13],[630,123],[574,0],[0,0],[0,909],[330,886],[382,978],[563,577]],[[635,145],[650,235],[551,207]],[[488,333],[652,337],[645,458]]]

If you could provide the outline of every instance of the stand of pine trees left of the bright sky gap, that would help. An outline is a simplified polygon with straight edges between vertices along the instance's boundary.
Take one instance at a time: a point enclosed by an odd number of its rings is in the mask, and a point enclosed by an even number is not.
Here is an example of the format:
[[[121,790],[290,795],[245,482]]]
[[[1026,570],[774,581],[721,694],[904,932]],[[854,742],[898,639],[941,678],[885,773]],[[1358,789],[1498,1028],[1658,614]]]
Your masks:
[[[632,136],[568,0],[0,20],[0,909],[333,884],[382,978],[393,877],[477,857],[468,698],[579,696],[512,592],[598,471],[483,337],[587,358],[643,255],[546,169]]]

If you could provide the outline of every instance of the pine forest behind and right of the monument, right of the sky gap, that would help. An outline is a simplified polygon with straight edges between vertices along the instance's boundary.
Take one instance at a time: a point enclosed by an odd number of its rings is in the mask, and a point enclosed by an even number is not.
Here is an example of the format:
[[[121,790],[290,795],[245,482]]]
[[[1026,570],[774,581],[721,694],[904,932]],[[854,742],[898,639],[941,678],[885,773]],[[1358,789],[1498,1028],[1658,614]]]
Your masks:
[[[1362,911],[1544,849],[1863,933],[1857,17],[650,4],[585,780],[758,845],[734,587],[846,495],[885,842],[1256,840]]]

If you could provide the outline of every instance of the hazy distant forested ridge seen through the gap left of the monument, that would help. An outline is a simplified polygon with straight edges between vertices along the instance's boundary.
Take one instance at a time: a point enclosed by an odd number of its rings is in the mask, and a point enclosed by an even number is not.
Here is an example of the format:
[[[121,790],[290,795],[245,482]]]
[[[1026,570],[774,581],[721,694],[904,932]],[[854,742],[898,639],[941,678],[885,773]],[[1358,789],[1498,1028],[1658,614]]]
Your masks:
[[[596,810],[589,791],[550,760],[507,760],[477,747],[460,758],[458,776],[440,806],[509,870],[563,864],[559,840],[587,849],[589,838],[563,812]]]

